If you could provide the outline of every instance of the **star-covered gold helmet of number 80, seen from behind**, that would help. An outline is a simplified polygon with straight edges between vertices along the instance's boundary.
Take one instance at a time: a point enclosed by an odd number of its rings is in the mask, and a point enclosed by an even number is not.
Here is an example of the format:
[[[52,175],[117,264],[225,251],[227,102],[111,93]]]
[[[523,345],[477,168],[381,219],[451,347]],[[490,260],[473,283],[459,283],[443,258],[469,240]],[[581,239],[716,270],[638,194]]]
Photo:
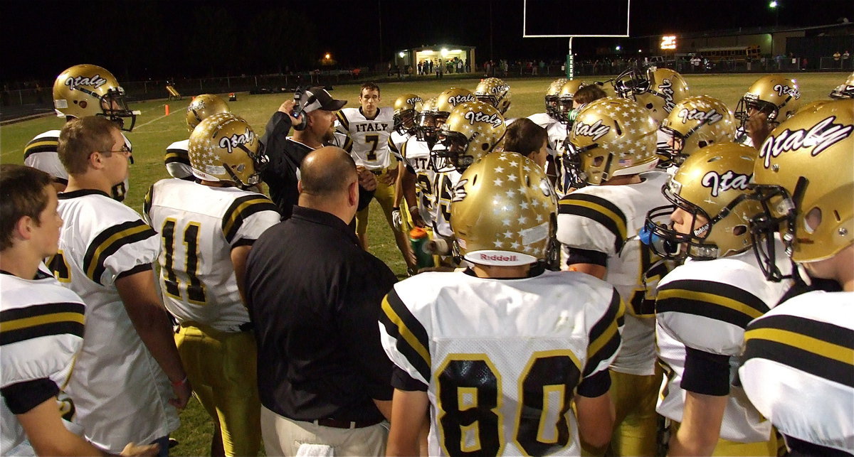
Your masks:
[[[459,177],[451,228],[466,260],[525,265],[555,256],[557,206],[552,185],[518,153],[484,155]]]

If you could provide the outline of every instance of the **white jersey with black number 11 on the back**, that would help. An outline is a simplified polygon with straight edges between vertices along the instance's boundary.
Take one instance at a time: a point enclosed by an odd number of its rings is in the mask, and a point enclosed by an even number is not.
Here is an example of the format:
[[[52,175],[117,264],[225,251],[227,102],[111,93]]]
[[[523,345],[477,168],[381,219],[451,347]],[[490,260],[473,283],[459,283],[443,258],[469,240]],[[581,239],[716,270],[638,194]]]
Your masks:
[[[223,332],[249,322],[231,249],[251,245],[279,221],[266,195],[164,179],[145,196],[145,218],[161,234],[163,303],[178,322],[193,321]]]

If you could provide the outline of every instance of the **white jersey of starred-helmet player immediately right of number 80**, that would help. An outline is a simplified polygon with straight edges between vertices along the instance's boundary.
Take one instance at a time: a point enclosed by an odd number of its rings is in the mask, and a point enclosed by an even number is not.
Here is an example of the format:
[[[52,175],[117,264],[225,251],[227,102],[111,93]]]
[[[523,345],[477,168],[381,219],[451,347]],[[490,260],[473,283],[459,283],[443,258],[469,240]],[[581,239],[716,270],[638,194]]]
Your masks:
[[[651,171],[642,182],[588,186],[559,202],[558,240],[570,250],[607,255],[605,281],[626,304],[623,349],[611,367],[620,373],[651,375],[655,368],[655,287],[670,264],[640,242],[646,212],[670,203],[661,194],[667,174]]]

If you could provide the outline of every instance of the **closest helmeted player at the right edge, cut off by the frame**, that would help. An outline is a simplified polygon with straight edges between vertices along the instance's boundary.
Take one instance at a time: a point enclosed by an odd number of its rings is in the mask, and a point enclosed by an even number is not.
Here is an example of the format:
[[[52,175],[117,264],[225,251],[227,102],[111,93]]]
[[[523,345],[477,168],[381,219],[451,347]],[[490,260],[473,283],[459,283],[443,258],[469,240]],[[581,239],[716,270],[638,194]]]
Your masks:
[[[842,289],[789,298],[745,332],[741,385],[797,455],[854,454],[852,150],[854,100],[831,101],[783,121],[753,168],[760,265],[785,276],[788,260],[770,251],[779,232],[793,262]]]

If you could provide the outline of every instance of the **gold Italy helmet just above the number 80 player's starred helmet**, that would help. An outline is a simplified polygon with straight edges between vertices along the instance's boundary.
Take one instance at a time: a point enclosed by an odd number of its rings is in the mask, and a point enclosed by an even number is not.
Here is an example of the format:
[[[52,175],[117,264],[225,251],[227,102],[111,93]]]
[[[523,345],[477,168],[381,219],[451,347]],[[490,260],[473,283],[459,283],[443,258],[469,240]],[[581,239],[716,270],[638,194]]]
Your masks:
[[[475,160],[490,153],[504,138],[504,118],[485,101],[466,101],[453,108],[439,129],[439,142],[445,148],[430,151],[447,159],[460,173]]]

